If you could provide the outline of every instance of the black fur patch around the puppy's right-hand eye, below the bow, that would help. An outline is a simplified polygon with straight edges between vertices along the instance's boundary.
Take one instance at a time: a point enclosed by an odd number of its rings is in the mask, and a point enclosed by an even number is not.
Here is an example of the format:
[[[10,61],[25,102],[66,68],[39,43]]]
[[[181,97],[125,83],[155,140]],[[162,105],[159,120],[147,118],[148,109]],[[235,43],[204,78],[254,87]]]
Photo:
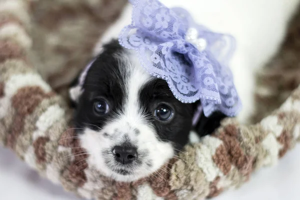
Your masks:
[[[195,103],[182,103],[170,91],[166,81],[154,79],[147,83],[139,92],[140,104],[149,116],[162,141],[171,141],[175,149],[181,149],[188,142]],[[171,120],[162,122],[153,116],[153,110],[159,103],[167,103],[174,115]]]

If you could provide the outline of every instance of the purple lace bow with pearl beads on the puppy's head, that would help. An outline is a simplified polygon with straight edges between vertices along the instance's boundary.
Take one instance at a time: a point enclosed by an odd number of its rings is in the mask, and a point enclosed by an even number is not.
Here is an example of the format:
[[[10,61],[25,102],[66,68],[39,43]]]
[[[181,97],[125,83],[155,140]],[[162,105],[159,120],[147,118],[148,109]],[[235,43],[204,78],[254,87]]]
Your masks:
[[[132,21],[122,29],[120,44],[135,49],[142,66],[166,80],[181,102],[200,100],[206,116],[216,110],[236,115],[241,103],[228,67],[233,37],[196,24],[183,8],[129,1]]]

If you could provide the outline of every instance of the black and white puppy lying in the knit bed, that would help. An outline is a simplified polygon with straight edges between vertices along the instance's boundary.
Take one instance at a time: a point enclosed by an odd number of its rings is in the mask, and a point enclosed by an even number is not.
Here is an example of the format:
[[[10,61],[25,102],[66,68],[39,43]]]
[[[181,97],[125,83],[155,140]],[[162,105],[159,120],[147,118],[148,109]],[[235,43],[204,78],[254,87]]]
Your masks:
[[[161,1],[170,7],[182,5],[182,1]],[[252,16],[251,7],[245,2],[229,1],[224,5],[221,0],[211,3],[200,0],[197,1],[199,6],[195,6],[193,0],[186,0],[182,6],[191,11],[193,18],[201,19],[199,23],[235,36],[238,45],[231,70],[244,105],[238,118],[246,122],[253,110],[254,69],[261,66],[280,44],[292,6],[282,7],[283,1],[275,0],[271,13],[280,20],[271,28],[263,26],[257,32],[255,22],[269,24],[267,18],[260,15],[249,25],[247,19]],[[296,4],[296,1],[292,3]],[[249,1],[248,5],[257,6],[258,12],[263,10],[259,6],[265,6],[260,2]],[[279,8],[284,8],[282,13],[278,12]],[[212,15],[214,9],[218,15]],[[232,13],[240,17],[234,17]],[[198,123],[192,125],[198,102],[178,101],[164,80],[152,77],[144,70],[135,52],[124,49],[112,39],[117,38],[121,28],[130,23],[130,14],[128,5],[95,46],[96,58],[87,71],[83,92],[77,86],[79,77],[70,89],[76,106],[74,123],[77,134],[89,153],[87,162],[119,181],[133,181],[151,174],[182,149],[188,142],[190,130],[195,130],[199,136],[209,134],[225,117],[219,112],[205,117],[201,112]],[[211,17],[207,17],[209,14]],[[250,41],[251,45],[248,45]],[[263,53],[258,53],[257,49]]]

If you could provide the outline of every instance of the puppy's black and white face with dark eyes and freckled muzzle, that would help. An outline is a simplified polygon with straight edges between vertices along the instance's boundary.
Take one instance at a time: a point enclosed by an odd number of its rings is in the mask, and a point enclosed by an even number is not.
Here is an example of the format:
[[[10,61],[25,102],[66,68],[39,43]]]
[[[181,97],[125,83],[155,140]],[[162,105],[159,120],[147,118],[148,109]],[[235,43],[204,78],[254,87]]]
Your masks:
[[[119,181],[149,175],[188,141],[194,104],[177,100],[116,41],[93,62],[75,124],[89,164]]]

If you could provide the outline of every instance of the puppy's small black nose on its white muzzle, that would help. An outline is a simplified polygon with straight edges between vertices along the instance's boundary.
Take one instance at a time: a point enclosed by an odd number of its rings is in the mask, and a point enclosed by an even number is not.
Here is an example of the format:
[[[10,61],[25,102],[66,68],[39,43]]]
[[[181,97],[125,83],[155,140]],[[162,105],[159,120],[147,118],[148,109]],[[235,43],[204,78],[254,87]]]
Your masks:
[[[122,164],[131,163],[136,157],[136,148],[128,145],[114,146],[113,153],[116,161]]]

